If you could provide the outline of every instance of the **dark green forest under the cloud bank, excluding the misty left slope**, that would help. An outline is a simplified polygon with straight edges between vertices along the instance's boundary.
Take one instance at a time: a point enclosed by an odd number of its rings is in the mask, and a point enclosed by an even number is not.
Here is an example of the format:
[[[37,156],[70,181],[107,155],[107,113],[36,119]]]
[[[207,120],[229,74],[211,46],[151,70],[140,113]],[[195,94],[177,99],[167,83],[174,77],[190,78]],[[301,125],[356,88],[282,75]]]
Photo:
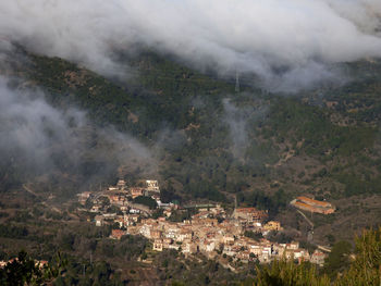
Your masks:
[[[282,96],[253,84],[235,92],[230,80],[151,52],[124,59],[137,71],[124,82],[62,59],[27,57],[10,73],[42,88],[53,107],[74,104],[91,124],[138,138],[155,152],[155,175],[184,198],[226,201],[245,190],[270,196],[269,189],[295,194],[311,186],[327,199],[380,191],[379,62],[348,64],[354,79],[347,85]],[[108,147],[99,134],[87,133],[90,151],[78,167],[84,176],[106,163],[95,153]]]

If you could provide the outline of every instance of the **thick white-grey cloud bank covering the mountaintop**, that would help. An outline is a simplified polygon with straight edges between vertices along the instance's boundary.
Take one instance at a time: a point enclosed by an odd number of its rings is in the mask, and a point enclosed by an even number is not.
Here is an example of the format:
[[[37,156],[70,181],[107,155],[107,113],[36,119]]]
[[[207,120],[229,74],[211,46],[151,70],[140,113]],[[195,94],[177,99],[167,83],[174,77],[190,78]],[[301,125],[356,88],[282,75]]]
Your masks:
[[[380,0],[12,0],[0,38],[109,75],[123,70],[114,50],[144,45],[293,91],[339,78],[330,63],[380,57]]]

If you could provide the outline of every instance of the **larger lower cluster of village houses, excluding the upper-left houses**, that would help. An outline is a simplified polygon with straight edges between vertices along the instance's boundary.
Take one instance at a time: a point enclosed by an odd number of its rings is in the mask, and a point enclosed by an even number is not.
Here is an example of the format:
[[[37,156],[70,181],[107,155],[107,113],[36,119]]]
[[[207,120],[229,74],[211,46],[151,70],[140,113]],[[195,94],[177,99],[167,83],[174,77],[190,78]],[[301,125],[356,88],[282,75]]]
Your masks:
[[[266,235],[270,231],[281,231],[279,222],[270,221],[262,224],[267,213],[255,208],[236,209],[232,216],[216,206],[209,210],[200,210],[190,220],[181,223],[170,222],[165,217],[142,219],[131,224],[126,216],[126,231],[113,229],[111,238],[120,239],[123,235],[143,235],[152,241],[152,249],[175,249],[184,254],[204,253],[209,259],[219,256],[231,257],[233,260],[248,262],[258,260],[267,263],[274,258],[310,261],[322,265],[325,254],[299,247],[298,243],[276,244],[261,238],[255,240],[246,237],[245,231],[251,229]],[[223,217],[218,220],[216,217]],[[220,221],[220,222],[219,222]]]

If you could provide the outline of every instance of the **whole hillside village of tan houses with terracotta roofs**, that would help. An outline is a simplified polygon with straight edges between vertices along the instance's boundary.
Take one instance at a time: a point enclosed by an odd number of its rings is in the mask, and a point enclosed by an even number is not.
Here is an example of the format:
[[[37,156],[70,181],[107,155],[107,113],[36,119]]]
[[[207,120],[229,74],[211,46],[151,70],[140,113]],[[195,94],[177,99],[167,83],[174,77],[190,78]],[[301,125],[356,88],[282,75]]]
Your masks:
[[[266,239],[270,232],[283,228],[280,222],[269,221],[267,211],[256,208],[235,208],[229,215],[220,204],[196,206],[196,213],[187,220],[171,221],[174,212],[185,210],[176,203],[161,202],[157,181],[140,181],[127,187],[120,179],[100,192],[82,192],[78,200],[95,214],[97,226],[112,225],[110,238],[142,235],[152,243],[153,251],[174,249],[186,256],[202,253],[209,259],[223,257],[244,263],[268,263],[285,257],[323,265],[327,257],[320,250],[309,253],[297,241],[278,244]],[[160,215],[153,217],[153,212]],[[245,236],[247,232],[257,234],[258,239]]]

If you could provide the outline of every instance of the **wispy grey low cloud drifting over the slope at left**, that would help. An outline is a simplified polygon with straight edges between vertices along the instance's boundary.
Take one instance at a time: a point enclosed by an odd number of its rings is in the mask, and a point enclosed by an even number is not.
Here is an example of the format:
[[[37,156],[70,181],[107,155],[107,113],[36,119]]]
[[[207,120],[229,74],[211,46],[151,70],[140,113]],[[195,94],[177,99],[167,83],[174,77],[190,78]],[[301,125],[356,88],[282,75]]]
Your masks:
[[[0,77],[0,182],[11,166],[32,178],[82,177],[82,187],[116,175],[120,166],[130,174],[157,173],[151,152],[137,139],[112,126],[95,126],[75,108],[57,109],[39,90],[14,86],[23,85]]]

